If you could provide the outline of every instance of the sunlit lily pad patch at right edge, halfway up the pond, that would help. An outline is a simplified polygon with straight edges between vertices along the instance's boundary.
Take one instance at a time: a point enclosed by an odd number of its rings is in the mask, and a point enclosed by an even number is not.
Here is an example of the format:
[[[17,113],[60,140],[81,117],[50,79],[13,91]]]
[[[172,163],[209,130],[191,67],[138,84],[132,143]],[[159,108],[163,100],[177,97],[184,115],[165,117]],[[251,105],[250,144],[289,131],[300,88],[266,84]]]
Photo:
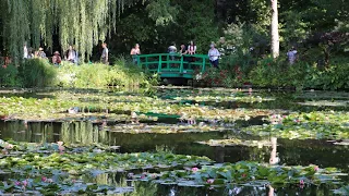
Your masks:
[[[345,139],[349,136],[348,112],[311,112],[272,115],[270,124],[249,126],[242,132],[291,139]]]

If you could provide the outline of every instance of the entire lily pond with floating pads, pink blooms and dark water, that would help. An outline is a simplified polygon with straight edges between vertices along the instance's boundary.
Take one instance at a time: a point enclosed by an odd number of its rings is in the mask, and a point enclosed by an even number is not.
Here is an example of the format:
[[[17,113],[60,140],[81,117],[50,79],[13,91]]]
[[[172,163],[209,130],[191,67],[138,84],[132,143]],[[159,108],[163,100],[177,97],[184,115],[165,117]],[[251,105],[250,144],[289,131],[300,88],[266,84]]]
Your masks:
[[[349,193],[348,93],[3,89],[0,102],[1,194]]]

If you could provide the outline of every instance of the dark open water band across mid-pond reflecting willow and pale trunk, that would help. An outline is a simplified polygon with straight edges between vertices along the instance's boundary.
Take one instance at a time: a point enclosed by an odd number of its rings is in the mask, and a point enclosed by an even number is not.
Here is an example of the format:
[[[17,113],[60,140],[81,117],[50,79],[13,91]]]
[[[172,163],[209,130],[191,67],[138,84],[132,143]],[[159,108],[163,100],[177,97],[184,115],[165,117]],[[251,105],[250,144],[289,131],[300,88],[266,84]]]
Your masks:
[[[121,152],[156,151],[160,146],[174,154],[207,156],[217,162],[237,162],[251,160],[288,166],[317,164],[337,167],[345,171],[348,168],[348,146],[337,146],[326,140],[282,139],[270,138],[269,147],[210,147],[194,142],[209,139],[225,139],[239,136],[233,131],[203,132],[203,133],[173,133],[173,134],[129,134],[113,133],[99,128],[99,124],[91,122],[25,122],[0,121],[1,138],[13,138],[19,142],[55,143],[62,140],[65,144],[100,143],[110,146],[121,146]],[[276,145],[277,142],[277,145]],[[277,157],[277,152],[280,156]]]

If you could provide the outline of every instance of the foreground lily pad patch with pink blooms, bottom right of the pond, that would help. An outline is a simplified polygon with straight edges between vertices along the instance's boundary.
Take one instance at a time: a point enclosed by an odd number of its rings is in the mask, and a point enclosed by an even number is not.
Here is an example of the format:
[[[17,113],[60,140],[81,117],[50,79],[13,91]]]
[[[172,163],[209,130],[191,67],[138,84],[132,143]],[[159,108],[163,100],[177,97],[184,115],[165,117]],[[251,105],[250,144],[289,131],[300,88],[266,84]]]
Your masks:
[[[269,183],[273,186],[285,184],[315,184],[328,181],[340,181],[340,171],[337,169],[318,169],[309,167],[269,167],[255,162],[241,161],[219,166],[204,166],[202,169],[165,171],[160,174],[141,174],[137,179],[157,183],[171,183],[186,186],[225,187],[231,183],[258,186]],[[159,180],[157,180],[159,179]],[[155,181],[157,180],[157,181]]]

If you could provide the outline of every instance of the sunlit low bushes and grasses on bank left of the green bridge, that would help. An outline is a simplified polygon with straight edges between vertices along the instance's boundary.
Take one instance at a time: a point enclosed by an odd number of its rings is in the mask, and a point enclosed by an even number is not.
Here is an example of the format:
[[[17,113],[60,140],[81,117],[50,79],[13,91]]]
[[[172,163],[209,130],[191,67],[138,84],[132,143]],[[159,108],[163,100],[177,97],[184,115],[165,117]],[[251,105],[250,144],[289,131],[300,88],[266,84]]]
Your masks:
[[[63,62],[59,68],[47,60],[32,59],[19,66],[1,66],[0,71],[1,86],[13,87],[147,88],[158,82],[156,76],[144,74],[137,66],[125,63],[123,59],[118,59],[116,65],[75,65]]]

